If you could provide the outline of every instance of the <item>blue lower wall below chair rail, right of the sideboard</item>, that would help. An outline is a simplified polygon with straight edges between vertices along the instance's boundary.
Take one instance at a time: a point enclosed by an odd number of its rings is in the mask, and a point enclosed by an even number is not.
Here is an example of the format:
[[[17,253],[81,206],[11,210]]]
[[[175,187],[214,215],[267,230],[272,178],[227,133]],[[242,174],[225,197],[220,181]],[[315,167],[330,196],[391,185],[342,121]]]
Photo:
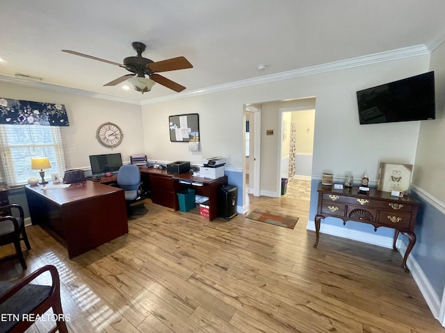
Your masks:
[[[414,229],[416,244],[410,256],[414,256],[432,289],[441,298],[445,288],[445,214],[425,198],[413,194],[422,205]],[[407,237],[403,242],[408,244]]]

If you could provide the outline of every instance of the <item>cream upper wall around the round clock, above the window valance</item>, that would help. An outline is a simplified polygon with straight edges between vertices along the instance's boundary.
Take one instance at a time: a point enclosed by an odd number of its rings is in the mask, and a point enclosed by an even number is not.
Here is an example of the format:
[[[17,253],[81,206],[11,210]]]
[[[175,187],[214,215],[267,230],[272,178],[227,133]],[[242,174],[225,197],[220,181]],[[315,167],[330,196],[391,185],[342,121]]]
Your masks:
[[[3,98],[65,105],[70,121],[70,126],[62,128],[67,169],[89,168],[89,155],[122,153],[122,160],[129,161],[131,154],[144,152],[140,105],[8,83],[0,83],[0,92]],[[116,148],[106,148],[95,138],[99,125],[107,121],[116,123],[124,133]]]

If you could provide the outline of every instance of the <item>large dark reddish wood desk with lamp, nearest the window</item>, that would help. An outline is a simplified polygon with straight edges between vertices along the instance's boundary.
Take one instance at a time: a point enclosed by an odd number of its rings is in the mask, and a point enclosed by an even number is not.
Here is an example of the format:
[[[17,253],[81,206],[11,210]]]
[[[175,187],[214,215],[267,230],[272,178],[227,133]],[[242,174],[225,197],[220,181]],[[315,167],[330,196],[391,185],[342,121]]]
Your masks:
[[[122,189],[84,181],[44,190],[51,185],[26,185],[31,221],[49,225],[65,239],[70,258],[128,233]]]

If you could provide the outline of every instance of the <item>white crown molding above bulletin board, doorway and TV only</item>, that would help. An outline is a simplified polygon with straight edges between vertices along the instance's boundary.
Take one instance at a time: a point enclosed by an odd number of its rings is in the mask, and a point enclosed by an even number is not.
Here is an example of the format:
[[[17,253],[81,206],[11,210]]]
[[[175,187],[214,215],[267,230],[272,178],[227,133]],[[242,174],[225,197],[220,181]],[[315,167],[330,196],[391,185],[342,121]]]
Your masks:
[[[284,71],[282,73],[259,76],[258,78],[250,78],[247,80],[225,83],[223,85],[215,85],[213,87],[192,90],[177,95],[169,95],[169,96],[157,97],[154,99],[146,99],[145,101],[141,102],[141,105],[161,103],[165,101],[172,101],[175,99],[183,99],[186,97],[198,96],[202,94],[211,94],[212,92],[222,92],[224,90],[248,87],[250,85],[261,85],[263,83],[270,83],[274,81],[288,80],[290,78],[299,78],[301,76],[326,73],[328,71],[338,71],[340,69],[371,65],[378,62],[386,62],[391,60],[410,58],[414,56],[423,56],[426,54],[430,54],[430,51],[428,50],[425,44],[410,46],[410,47],[405,47],[403,49],[396,49],[393,51],[374,53],[369,56],[362,56],[347,60],[340,60],[336,62],[328,62],[323,65],[305,67],[302,69],[295,69],[292,71]]]

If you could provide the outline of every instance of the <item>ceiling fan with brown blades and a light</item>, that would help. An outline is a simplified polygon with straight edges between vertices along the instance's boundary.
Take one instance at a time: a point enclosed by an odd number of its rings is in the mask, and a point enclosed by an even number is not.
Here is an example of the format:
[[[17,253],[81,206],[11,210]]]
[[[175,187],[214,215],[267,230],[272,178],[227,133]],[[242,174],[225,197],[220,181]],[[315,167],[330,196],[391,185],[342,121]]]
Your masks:
[[[175,92],[181,92],[182,90],[186,89],[186,87],[184,87],[183,85],[179,85],[179,83],[176,83],[172,80],[169,80],[168,78],[165,78],[164,76],[156,74],[157,72],[161,71],[176,71],[177,69],[192,68],[193,65],[188,62],[186,58],[181,56],[154,62],[153,60],[143,58],[142,53],[143,51],[145,51],[145,44],[141,42],[132,42],[131,46],[133,46],[134,51],[138,53],[138,56],[125,58],[123,65],[118,64],[118,62],[88,56],[88,54],[79,53],[76,51],[62,51],[74,54],[75,56],[99,60],[111,65],[124,67],[125,69],[127,69],[127,71],[131,71],[132,74],[126,74],[124,76],[121,76],[120,78],[116,78],[115,80],[106,83],[104,86],[118,85],[119,83],[124,82],[124,80],[128,79],[129,83],[133,85],[133,88],[142,93],[149,92],[155,82],[163,85],[164,87],[175,90]],[[145,78],[145,75],[147,75],[149,78]]]

